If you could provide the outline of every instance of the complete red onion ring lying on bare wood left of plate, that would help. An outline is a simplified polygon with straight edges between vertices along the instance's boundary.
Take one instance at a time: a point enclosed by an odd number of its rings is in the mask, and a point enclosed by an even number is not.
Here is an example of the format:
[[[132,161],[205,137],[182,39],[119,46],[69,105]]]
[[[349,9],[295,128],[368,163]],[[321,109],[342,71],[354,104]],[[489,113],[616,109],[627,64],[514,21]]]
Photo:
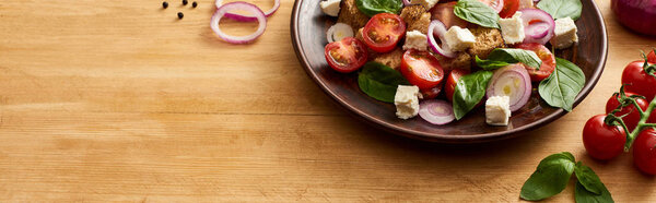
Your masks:
[[[257,31],[255,31],[255,33],[247,35],[247,36],[232,36],[232,35],[227,35],[227,34],[223,33],[221,31],[221,28],[219,27],[219,22],[221,21],[221,19],[223,16],[225,16],[225,14],[229,11],[233,11],[233,10],[243,10],[243,11],[248,11],[248,12],[254,13],[255,17],[259,22]],[[212,27],[212,31],[214,31],[214,33],[219,37],[221,37],[223,40],[225,40],[227,43],[246,44],[246,43],[250,43],[250,41],[255,40],[256,38],[258,38],[260,35],[262,35],[265,33],[265,29],[267,28],[267,17],[265,16],[265,13],[262,13],[262,10],[260,10],[259,8],[257,8],[254,4],[243,2],[243,1],[230,2],[230,3],[225,3],[224,5],[221,5],[219,9],[216,9],[216,12],[214,12],[214,15],[212,16],[212,20],[210,22],[210,27]]]

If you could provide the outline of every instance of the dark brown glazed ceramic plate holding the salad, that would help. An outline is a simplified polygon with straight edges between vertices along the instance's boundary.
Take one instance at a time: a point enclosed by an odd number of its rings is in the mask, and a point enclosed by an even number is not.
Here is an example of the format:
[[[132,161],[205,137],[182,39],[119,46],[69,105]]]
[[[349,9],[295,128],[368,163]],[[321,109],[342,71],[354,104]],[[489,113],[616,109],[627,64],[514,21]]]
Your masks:
[[[292,40],[296,56],[307,74],[338,104],[358,118],[396,134],[444,143],[476,143],[512,138],[517,132],[547,124],[566,111],[549,107],[534,89],[531,99],[520,110],[513,112],[507,127],[485,124],[483,108],[477,108],[465,118],[446,126],[433,126],[415,117],[398,119],[393,104],[368,97],[358,87],[358,74],[342,74],[328,67],[324,58],[327,44],[326,31],[336,19],[325,15],[320,0],[296,0],[292,12]],[[594,0],[582,0],[583,13],[578,26],[579,44],[574,48],[557,51],[557,56],[576,63],[586,76],[583,91],[575,106],[593,89],[606,63],[608,39],[606,25]]]

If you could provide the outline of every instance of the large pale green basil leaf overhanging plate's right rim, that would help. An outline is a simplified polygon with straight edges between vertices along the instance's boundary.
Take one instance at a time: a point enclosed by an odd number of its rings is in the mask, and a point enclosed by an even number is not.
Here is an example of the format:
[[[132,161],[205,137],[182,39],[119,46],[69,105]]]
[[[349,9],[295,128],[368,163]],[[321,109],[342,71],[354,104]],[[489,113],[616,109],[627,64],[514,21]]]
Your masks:
[[[538,93],[552,107],[572,111],[576,95],[583,89],[585,74],[576,64],[561,58],[555,58],[555,70],[540,82]]]

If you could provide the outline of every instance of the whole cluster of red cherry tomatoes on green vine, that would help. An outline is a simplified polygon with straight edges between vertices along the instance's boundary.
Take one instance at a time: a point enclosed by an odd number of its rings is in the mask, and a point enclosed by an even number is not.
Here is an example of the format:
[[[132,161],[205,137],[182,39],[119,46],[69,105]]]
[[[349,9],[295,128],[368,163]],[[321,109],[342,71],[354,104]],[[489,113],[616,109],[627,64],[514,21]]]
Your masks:
[[[602,160],[633,146],[635,166],[656,175],[656,53],[643,58],[624,68],[620,92],[606,103],[607,115],[585,123],[583,144],[593,158]]]

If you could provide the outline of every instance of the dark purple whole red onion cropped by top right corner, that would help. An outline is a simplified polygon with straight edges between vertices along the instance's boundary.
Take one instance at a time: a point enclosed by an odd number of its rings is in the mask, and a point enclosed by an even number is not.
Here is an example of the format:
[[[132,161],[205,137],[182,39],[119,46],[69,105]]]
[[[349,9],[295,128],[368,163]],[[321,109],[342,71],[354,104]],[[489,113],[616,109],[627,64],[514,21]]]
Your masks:
[[[611,9],[624,26],[656,36],[656,0],[611,0]]]

